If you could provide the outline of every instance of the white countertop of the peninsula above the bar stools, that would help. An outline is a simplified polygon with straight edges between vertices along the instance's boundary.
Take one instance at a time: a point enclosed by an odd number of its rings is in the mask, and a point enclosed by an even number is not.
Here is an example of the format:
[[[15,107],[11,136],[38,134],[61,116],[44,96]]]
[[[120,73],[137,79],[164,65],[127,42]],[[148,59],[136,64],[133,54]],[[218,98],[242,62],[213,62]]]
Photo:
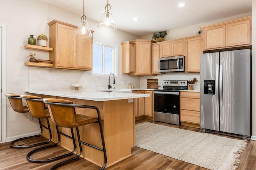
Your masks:
[[[132,98],[144,98],[150,97],[150,94],[135,94],[131,93],[131,89],[116,89],[108,92],[107,89],[100,90],[25,90],[27,93],[43,94],[49,96],[58,96],[65,98],[75,98],[82,100],[93,100],[93,101],[109,101],[109,100],[122,100]]]

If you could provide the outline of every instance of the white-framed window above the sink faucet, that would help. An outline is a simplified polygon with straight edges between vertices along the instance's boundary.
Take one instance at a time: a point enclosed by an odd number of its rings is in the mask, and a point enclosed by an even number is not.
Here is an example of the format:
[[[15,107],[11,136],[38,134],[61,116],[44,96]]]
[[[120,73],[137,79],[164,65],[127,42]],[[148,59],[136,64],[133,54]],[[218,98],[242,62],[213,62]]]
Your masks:
[[[117,47],[98,41],[93,42],[92,74],[117,76]]]

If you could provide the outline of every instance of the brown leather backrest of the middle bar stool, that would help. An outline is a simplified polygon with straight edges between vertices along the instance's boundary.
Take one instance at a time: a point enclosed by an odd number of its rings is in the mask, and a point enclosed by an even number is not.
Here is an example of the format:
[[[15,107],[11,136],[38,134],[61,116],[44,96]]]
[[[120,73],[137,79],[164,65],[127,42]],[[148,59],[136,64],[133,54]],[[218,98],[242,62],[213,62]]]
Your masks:
[[[36,118],[47,118],[49,116],[46,116],[44,113],[44,102],[43,99],[38,96],[31,96],[27,94],[20,95],[24,100],[26,100],[28,109],[33,117]]]

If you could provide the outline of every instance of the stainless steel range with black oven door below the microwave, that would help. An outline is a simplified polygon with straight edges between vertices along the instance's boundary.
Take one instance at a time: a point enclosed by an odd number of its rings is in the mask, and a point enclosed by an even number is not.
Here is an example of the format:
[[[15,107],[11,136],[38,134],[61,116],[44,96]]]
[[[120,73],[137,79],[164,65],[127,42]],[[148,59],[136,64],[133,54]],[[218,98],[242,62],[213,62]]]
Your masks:
[[[180,125],[180,90],[188,89],[188,80],[164,80],[154,90],[154,121]]]

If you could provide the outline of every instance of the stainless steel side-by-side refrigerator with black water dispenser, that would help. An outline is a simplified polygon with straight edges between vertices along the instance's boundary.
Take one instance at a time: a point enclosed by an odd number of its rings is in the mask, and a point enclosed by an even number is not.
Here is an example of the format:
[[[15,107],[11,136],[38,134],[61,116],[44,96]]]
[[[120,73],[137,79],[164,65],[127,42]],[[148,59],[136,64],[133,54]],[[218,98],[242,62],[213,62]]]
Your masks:
[[[200,56],[201,131],[251,136],[250,49]]]

